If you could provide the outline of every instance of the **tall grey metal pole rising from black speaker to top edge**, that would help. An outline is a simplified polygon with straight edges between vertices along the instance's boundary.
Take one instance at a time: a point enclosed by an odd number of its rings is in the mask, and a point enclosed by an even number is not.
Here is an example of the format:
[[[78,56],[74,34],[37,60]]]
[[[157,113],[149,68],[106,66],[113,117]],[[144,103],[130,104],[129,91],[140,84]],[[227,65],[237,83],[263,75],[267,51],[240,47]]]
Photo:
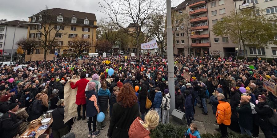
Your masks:
[[[167,0],[167,62],[168,62],[168,89],[171,94],[170,110],[171,114],[175,109],[175,88],[174,88],[174,60],[173,60],[173,36],[171,25],[171,0]]]

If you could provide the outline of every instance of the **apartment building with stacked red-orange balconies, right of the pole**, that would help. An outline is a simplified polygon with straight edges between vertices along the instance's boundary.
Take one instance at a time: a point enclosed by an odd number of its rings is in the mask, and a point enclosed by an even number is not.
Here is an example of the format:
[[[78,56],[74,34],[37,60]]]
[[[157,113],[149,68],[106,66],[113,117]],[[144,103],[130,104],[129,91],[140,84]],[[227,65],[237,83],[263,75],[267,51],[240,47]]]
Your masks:
[[[176,30],[173,31],[174,53],[187,55],[187,45],[189,45],[191,54],[196,56],[235,56],[237,44],[229,41],[228,36],[215,36],[212,32],[212,25],[234,10],[234,7],[234,2],[230,0],[185,0],[173,7],[172,18],[174,22],[172,27]],[[182,29],[183,23],[180,23],[178,18],[184,12],[190,16],[191,36],[189,40]]]

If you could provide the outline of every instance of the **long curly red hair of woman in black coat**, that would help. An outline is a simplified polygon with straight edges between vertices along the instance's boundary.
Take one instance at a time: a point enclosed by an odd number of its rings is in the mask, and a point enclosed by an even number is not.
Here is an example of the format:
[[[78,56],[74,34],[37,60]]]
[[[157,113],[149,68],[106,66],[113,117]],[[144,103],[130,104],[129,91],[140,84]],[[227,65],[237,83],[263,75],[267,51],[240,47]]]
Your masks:
[[[130,83],[125,83],[120,88],[116,101],[121,102],[124,108],[126,108],[127,106],[130,108],[135,103],[137,103],[137,96],[135,94],[135,90],[130,85]]]

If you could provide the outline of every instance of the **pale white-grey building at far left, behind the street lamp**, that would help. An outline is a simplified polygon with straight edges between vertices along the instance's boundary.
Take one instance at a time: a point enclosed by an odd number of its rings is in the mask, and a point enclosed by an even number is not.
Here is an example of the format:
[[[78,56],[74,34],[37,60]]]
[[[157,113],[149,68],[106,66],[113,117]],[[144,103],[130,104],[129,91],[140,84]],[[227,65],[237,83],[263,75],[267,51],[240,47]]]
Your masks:
[[[17,45],[16,42],[21,38],[27,36],[28,25],[19,25],[22,23],[28,23],[26,21],[7,21],[0,24],[0,55],[11,55],[12,48],[14,48],[13,52],[16,52]],[[15,32],[15,27],[19,25]],[[14,39],[14,47],[13,47],[13,39]]]

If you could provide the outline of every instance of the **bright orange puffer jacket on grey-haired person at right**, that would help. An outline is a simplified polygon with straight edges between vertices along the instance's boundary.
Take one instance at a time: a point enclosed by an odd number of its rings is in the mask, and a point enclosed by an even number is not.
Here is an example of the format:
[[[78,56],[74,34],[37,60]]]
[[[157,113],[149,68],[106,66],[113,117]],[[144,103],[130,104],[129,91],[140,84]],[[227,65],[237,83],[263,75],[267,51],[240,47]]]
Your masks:
[[[230,125],[231,124],[231,106],[228,102],[224,101],[218,101],[219,104],[217,105],[216,110],[216,120],[217,123],[224,124],[224,125]]]

